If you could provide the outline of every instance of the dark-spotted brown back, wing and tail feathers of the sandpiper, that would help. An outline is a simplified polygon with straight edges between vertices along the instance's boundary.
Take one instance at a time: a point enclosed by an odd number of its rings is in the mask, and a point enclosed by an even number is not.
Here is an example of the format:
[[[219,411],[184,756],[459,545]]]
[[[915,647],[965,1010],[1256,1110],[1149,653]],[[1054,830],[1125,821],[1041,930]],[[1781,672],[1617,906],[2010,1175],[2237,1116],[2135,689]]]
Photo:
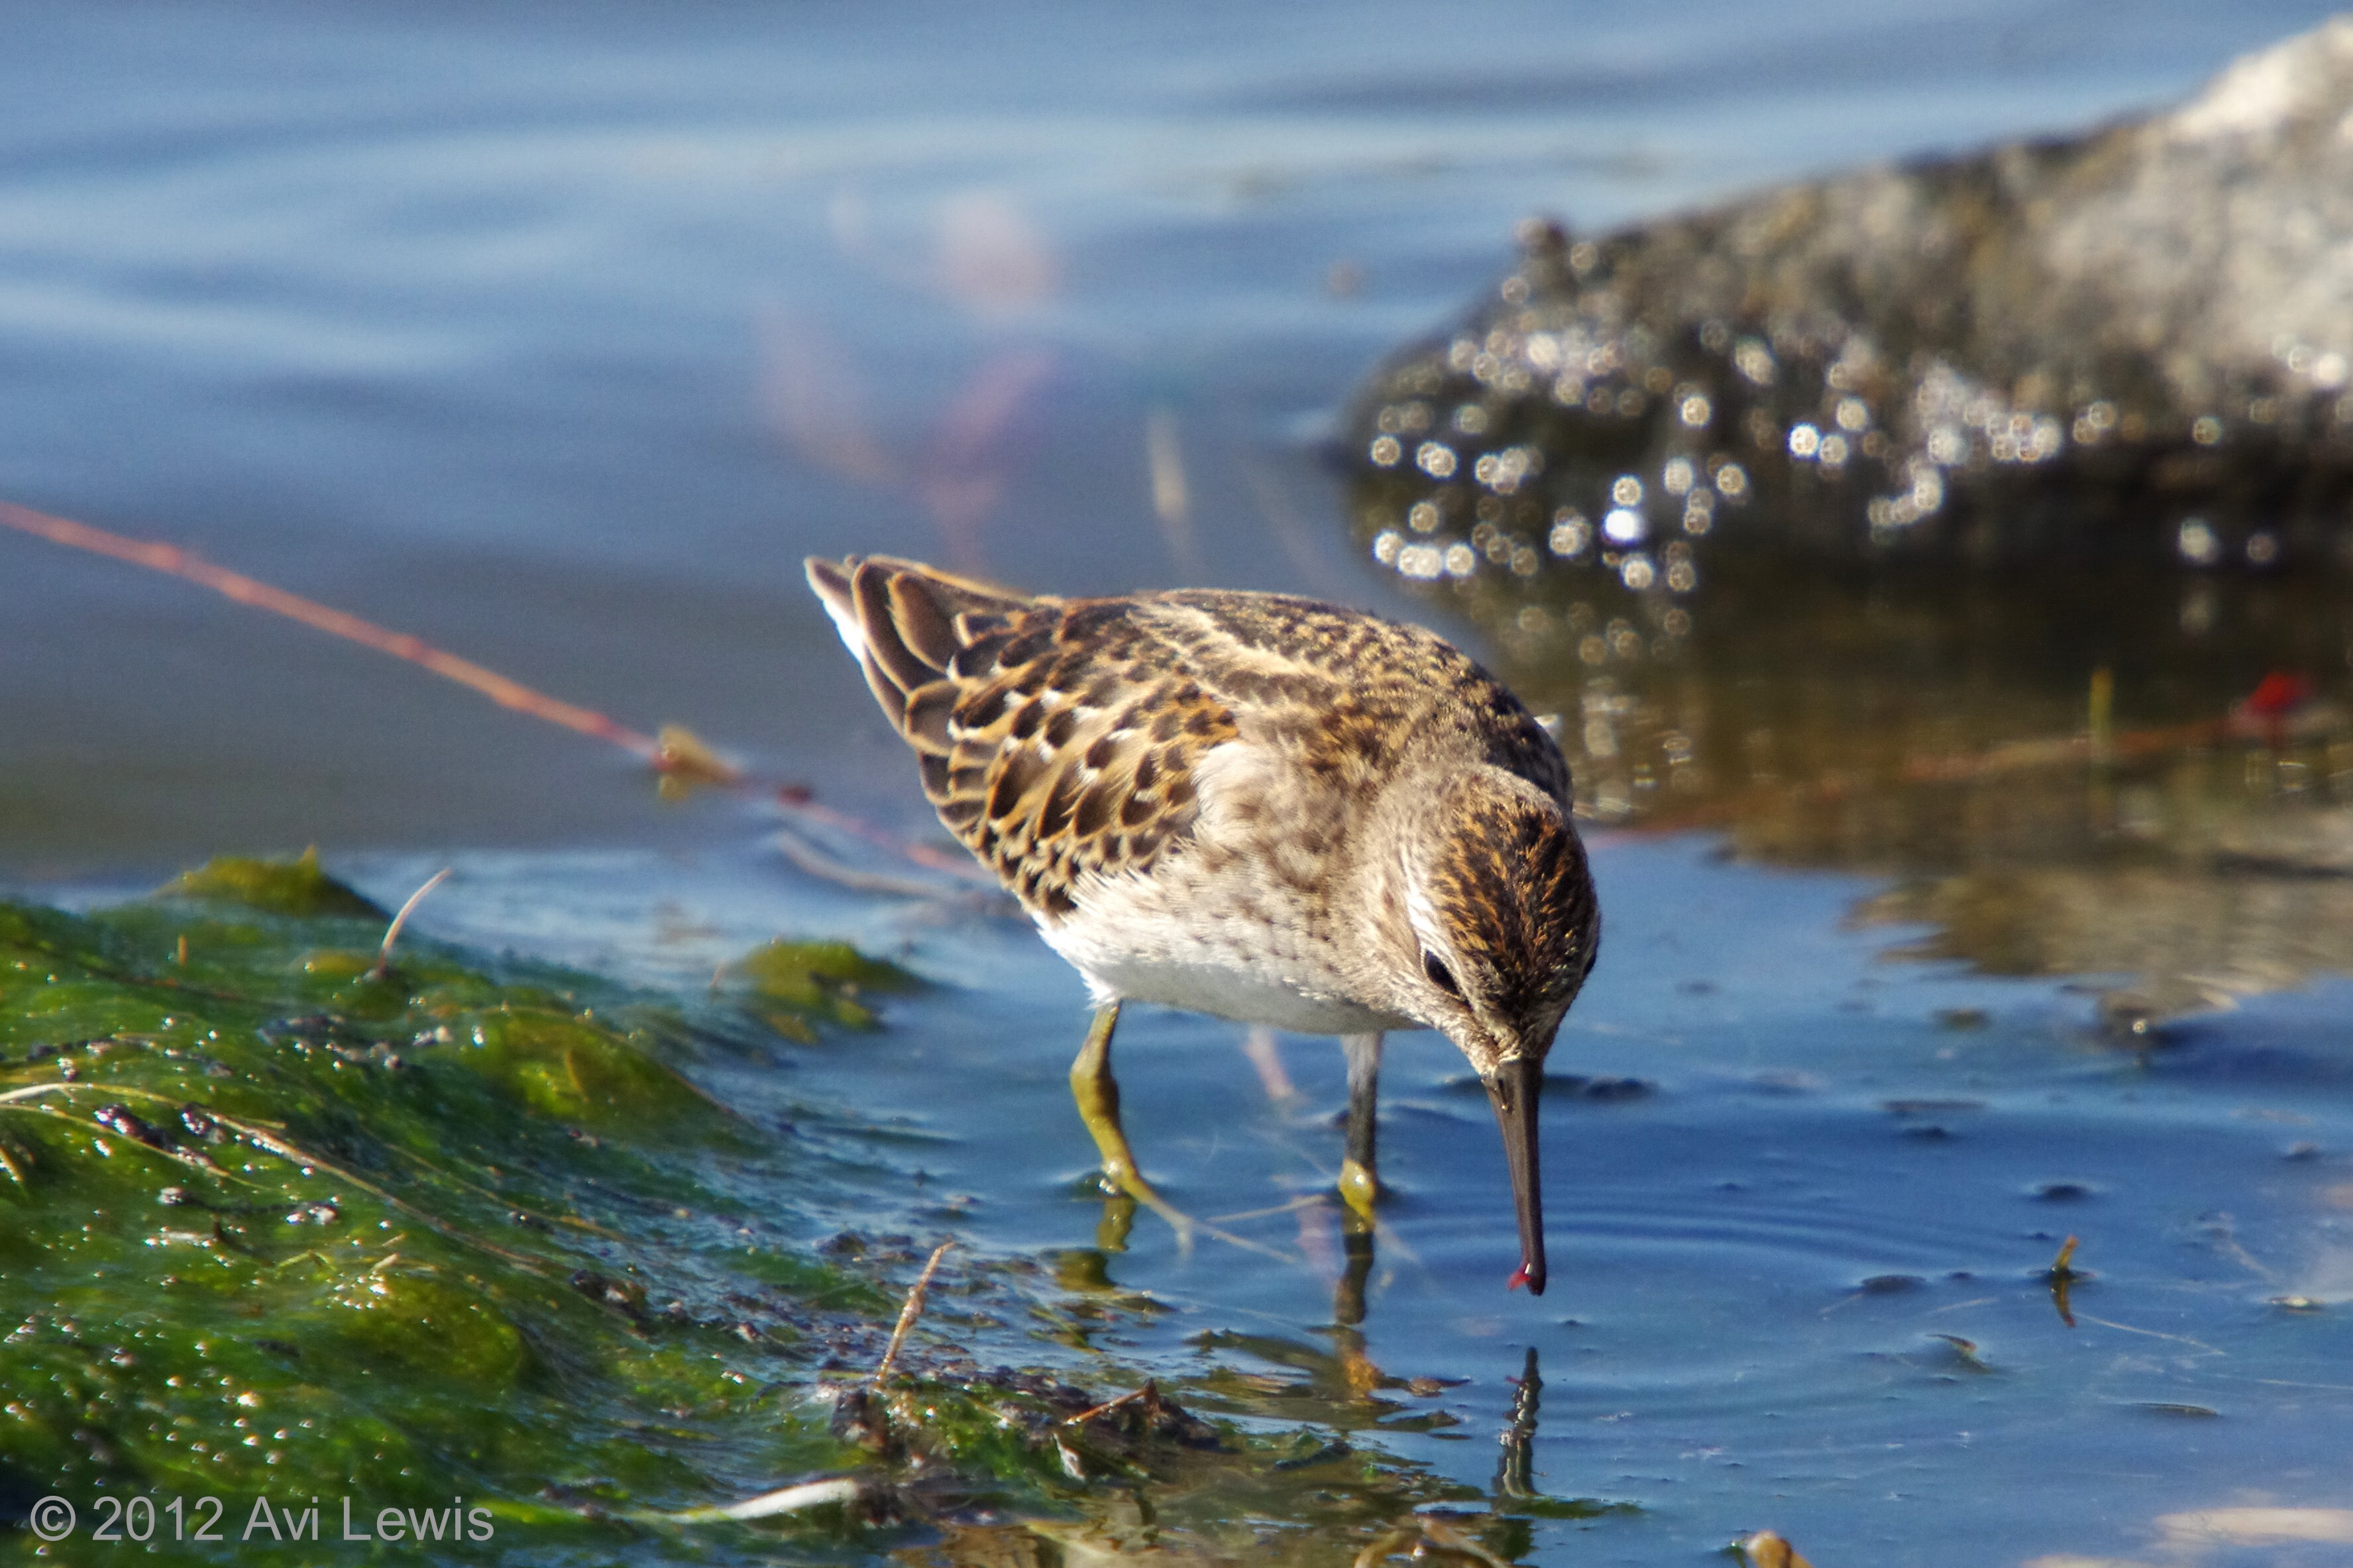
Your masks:
[[[1567,804],[1551,736],[1419,628],[1280,595],[1024,597],[887,557],[809,562],[809,581],[854,623],[941,823],[1045,922],[1085,872],[1184,846],[1195,769],[1240,736],[1297,764],[1306,849],[1433,722]]]

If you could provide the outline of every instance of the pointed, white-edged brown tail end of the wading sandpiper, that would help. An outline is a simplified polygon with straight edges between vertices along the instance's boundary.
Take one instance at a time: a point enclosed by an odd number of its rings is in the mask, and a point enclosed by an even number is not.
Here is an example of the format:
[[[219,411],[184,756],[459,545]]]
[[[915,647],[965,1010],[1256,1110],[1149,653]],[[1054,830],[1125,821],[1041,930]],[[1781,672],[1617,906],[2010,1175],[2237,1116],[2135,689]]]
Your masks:
[[[946,733],[944,724],[929,722],[929,703],[911,722],[915,693],[946,679],[960,651],[1007,630],[1021,611],[1049,604],[887,555],[849,555],[838,562],[812,555],[805,564],[809,588],[833,616],[833,630],[866,668],[875,703],[922,755],[946,755]],[[941,733],[934,736],[934,729]],[[925,745],[927,741],[936,745]]]

